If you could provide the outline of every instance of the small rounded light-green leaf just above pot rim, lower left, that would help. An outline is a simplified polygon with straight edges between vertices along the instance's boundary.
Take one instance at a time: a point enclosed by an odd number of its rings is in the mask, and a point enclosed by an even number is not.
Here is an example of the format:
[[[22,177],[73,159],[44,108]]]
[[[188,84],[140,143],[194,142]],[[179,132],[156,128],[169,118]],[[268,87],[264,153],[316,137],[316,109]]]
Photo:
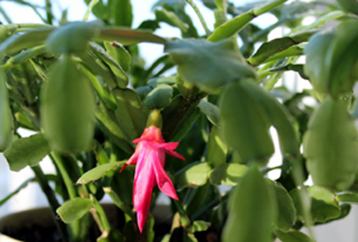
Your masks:
[[[74,198],[68,200],[57,208],[56,212],[61,220],[68,224],[80,219],[92,207],[92,201],[88,198]]]

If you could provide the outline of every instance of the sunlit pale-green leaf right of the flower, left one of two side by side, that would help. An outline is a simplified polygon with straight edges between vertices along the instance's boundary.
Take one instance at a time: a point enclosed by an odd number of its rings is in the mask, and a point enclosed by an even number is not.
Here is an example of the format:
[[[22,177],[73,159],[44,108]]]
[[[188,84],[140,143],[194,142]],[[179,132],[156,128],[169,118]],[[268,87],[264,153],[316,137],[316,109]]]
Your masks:
[[[206,162],[194,162],[175,174],[175,186],[178,189],[185,187],[203,186],[208,178],[211,166]]]

